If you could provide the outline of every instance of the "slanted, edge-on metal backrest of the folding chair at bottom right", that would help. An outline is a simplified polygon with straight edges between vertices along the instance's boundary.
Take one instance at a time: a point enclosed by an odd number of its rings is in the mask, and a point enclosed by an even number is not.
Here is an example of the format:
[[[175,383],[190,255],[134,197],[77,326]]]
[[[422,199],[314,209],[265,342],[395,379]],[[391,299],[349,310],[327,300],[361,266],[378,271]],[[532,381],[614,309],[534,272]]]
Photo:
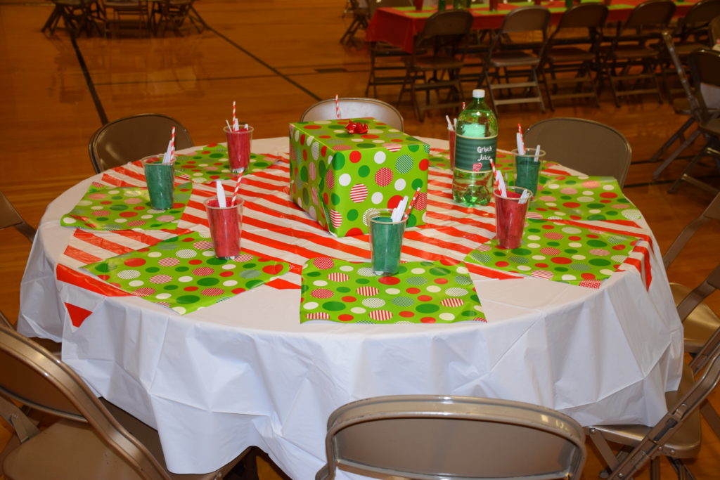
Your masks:
[[[648,458],[653,458],[657,453],[662,452],[665,443],[683,427],[685,420],[696,412],[715,389],[720,381],[720,330],[715,332],[698,355],[706,360],[705,371],[685,390],[685,394],[675,404],[667,406],[667,413],[660,422],[657,422],[629,455],[613,468],[608,480],[631,478]],[[672,456],[672,450],[665,450],[665,454]]]

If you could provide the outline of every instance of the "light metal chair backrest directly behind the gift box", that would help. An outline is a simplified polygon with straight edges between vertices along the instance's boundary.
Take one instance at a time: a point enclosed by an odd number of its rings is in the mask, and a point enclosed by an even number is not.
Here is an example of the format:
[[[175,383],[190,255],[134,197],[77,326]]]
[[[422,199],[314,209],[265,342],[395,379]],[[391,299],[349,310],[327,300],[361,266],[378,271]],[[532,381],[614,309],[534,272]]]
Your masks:
[[[395,107],[377,99],[338,99],[343,118],[373,117],[380,122],[387,123],[397,130],[403,131],[405,124],[402,114]],[[318,101],[305,110],[300,116],[300,122],[314,120],[336,119],[335,99]]]

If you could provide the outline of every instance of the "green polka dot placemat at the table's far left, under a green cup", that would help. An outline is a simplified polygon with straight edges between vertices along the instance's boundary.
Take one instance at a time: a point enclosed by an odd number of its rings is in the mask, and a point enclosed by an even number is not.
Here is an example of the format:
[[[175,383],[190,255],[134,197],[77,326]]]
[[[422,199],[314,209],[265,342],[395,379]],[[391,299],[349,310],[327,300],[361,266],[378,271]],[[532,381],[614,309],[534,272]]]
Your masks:
[[[176,185],[171,209],[150,206],[145,187],[91,186],[81,201],[60,219],[60,225],[90,230],[157,230],[175,228],[192,193],[191,184]]]

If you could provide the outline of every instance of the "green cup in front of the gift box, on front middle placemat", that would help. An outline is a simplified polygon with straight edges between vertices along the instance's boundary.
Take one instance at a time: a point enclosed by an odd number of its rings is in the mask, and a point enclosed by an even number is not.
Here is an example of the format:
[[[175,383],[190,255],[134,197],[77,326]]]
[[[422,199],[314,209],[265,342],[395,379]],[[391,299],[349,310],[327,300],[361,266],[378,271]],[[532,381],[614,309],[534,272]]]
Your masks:
[[[377,275],[395,275],[400,268],[402,236],[405,235],[405,215],[393,222],[392,209],[382,209],[369,219],[372,269]]]

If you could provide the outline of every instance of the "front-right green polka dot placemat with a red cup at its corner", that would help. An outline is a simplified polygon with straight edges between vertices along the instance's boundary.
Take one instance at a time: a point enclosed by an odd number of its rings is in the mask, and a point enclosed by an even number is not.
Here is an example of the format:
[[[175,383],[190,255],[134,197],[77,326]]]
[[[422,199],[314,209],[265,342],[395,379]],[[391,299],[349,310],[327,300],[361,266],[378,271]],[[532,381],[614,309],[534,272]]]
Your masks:
[[[639,239],[539,219],[527,219],[520,248],[505,250],[494,240],[465,261],[539,279],[599,289],[615,273]]]

